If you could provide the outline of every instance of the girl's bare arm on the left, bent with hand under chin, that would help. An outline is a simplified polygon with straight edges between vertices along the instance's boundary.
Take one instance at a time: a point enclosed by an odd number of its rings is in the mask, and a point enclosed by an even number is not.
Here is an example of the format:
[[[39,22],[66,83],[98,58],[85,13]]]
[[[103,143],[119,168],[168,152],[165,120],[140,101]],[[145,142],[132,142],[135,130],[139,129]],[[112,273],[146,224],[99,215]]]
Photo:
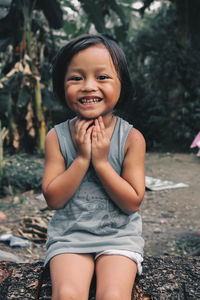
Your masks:
[[[76,143],[78,156],[66,169],[55,129],[49,131],[45,141],[45,169],[42,190],[49,207],[59,209],[73,196],[85,176],[91,159],[88,122],[78,121]],[[77,124],[77,123],[76,123]]]

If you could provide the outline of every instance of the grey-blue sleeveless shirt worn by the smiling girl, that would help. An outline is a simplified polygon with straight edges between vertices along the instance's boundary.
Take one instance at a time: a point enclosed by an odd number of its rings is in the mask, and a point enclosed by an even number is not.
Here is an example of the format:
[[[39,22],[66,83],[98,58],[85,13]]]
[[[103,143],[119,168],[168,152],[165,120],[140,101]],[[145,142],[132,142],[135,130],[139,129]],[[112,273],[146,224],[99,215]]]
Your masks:
[[[108,161],[121,175],[124,146],[132,128],[116,117]],[[69,120],[55,126],[66,169],[77,157]],[[109,197],[90,165],[79,188],[64,207],[55,211],[48,225],[44,264],[58,254],[129,250],[143,255],[142,221],[138,212],[126,214]]]

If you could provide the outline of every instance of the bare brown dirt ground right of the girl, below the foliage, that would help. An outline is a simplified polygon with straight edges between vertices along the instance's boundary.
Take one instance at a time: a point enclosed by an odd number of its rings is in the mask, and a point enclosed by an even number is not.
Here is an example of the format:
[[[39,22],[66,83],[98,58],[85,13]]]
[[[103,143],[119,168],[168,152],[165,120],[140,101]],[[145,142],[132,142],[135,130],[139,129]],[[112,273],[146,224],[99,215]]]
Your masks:
[[[141,214],[147,255],[198,254],[199,173],[200,158],[194,154],[147,154],[147,176],[189,185],[187,188],[146,192]]]

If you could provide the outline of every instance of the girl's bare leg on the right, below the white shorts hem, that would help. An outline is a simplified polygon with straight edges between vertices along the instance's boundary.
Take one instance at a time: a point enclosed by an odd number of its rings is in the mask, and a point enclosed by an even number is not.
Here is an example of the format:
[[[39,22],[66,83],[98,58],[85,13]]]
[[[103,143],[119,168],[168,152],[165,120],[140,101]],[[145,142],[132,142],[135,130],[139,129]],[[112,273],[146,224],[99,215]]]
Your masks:
[[[136,263],[122,255],[101,255],[96,261],[96,300],[131,300]]]

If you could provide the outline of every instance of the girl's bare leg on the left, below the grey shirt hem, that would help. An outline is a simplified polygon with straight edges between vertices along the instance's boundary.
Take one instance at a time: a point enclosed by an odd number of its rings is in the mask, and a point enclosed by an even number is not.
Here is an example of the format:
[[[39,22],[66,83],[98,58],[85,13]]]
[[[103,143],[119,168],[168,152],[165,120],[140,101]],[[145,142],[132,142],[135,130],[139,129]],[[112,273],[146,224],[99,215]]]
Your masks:
[[[60,254],[50,261],[52,300],[88,300],[94,259],[87,254]]]

